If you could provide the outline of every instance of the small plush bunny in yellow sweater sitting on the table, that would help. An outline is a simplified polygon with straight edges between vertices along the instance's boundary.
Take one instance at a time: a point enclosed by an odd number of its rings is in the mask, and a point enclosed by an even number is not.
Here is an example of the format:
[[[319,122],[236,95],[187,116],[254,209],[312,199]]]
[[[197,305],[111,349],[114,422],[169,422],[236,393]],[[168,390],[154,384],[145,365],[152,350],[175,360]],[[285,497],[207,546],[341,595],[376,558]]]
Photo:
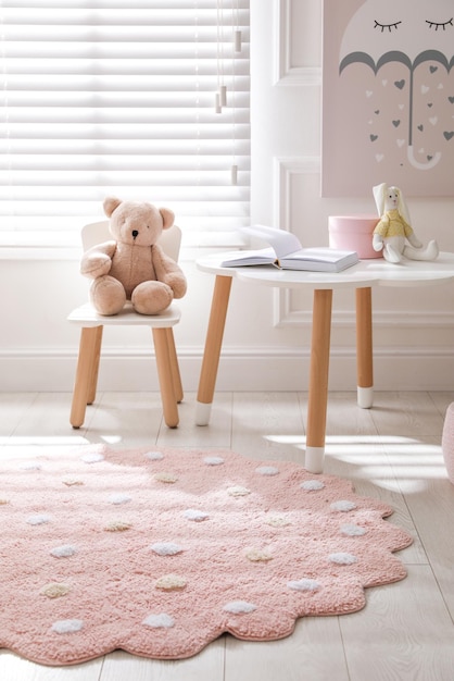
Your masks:
[[[437,242],[429,242],[426,248],[415,236],[409,224],[409,214],[399,187],[388,187],[386,183],[373,189],[380,221],[374,230],[373,248],[383,251],[388,262],[409,260],[434,260],[439,255]],[[405,242],[409,242],[406,244]]]

